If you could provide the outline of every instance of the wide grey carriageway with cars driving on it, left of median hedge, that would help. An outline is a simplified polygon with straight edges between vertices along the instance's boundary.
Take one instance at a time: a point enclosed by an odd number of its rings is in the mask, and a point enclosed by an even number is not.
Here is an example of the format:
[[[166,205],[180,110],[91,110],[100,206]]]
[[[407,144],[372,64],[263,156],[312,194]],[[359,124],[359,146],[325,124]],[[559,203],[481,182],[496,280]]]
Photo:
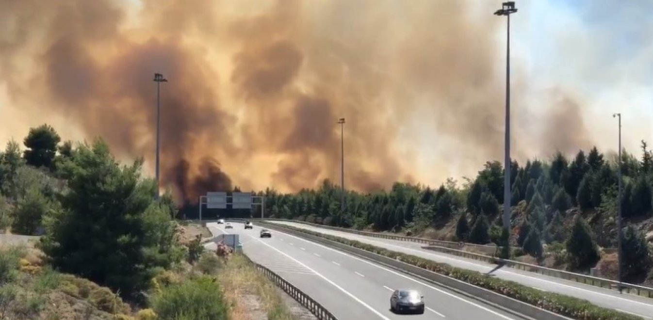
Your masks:
[[[224,229],[224,225],[217,223],[207,223],[206,226],[213,234],[239,234],[243,251],[252,261],[290,281],[341,320],[524,319],[438,285],[290,234],[271,231],[272,238],[259,238],[261,229],[256,223],[254,229],[248,230],[242,223],[233,223],[233,229]],[[215,243],[205,246],[214,249]],[[389,300],[395,289],[421,291],[426,306],[424,314],[397,315],[391,312]]]

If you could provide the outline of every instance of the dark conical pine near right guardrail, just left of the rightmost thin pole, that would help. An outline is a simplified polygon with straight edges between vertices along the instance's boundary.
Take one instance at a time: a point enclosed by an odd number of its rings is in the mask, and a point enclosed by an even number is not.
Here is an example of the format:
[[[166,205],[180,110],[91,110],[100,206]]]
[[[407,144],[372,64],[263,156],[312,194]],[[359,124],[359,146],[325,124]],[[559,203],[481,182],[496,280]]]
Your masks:
[[[581,215],[575,217],[566,246],[567,252],[574,259],[577,268],[590,268],[600,259],[599,248],[596,245],[592,229]]]

